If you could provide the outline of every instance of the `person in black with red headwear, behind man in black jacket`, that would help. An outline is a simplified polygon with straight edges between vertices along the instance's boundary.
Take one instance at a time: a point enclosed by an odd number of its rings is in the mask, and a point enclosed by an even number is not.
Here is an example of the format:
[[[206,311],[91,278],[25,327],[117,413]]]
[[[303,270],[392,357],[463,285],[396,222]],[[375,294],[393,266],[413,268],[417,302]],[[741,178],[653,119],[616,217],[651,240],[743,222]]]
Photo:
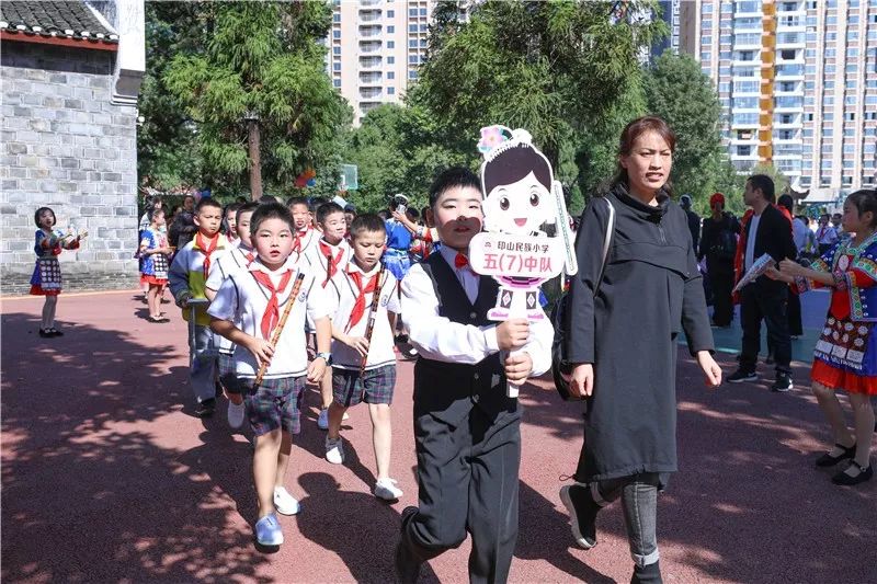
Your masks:
[[[730,327],[733,320],[733,256],[740,221],[725,210],[725,195],[709,197],[711,215],[704,219],[704,232],[697,259],[706,257],[706,272],[713,289],[713,324]]]

